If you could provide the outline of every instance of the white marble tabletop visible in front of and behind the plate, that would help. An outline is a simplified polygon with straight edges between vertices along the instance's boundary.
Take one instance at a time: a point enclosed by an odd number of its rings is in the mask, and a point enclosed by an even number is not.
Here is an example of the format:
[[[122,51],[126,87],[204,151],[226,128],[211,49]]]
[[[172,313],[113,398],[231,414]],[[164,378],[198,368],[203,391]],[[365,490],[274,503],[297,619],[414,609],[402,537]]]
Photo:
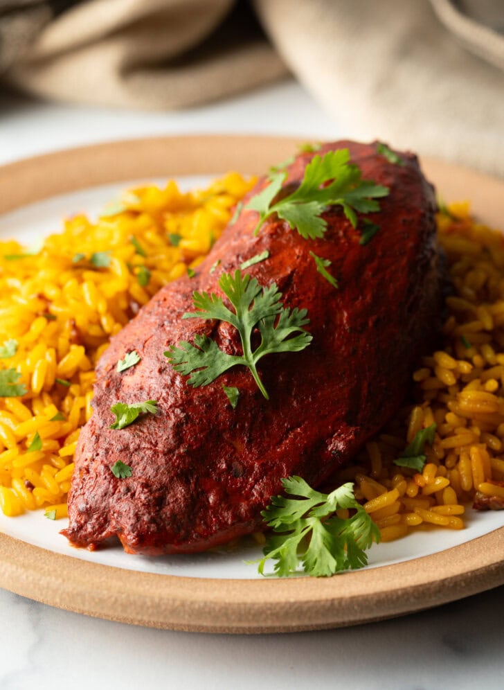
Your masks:
[[[36,103],[0,93],[0,163],[154,134],[352,136],[294,82],[175,114]],[[0,689],[501,689],[504,587],[393,621],[271,636],[135,628],[0,590]]]

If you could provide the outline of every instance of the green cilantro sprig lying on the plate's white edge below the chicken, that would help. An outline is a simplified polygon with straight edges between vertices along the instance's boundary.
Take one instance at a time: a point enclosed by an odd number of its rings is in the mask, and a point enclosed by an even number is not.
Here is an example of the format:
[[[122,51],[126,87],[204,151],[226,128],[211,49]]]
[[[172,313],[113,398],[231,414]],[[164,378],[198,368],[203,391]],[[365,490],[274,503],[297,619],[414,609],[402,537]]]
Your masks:
[[[301,477],[282,479],[285,492],[296,498],[271,497],[262,517],[273,533],[264,546],[258,571],[275,560],[274,571],[285,577],[303,571],[315,577],[361,568],[368,563],[366,549],[379,542],[376,524],[354,497],[353,484],[343,484],[330,494],[312,489]],[[338,517],[336,511],[350,508],[354,515]]]

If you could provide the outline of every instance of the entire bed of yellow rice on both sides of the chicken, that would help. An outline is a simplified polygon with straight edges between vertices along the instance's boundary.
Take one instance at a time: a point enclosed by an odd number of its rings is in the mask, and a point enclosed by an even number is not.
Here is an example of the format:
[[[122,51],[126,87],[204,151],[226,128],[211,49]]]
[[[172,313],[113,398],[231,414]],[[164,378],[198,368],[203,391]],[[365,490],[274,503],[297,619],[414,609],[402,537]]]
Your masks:
[[[0,345],[19,344],[0,369],[17,369],[28,389],[22,398],[0,398],[6,515],[40,507],[49,517],[66,515],[73,452],[91,416],[93,367],[109,337],[202,260],[253,182],[231,173],[204,191],[181,193],[174,182],[138,188],[96,223],[84,215],[67,220],[36,256],[9,260],[26,250],[0,242]],[[415,402],[337,477],[355,482],[384,541],[426,527],[461,529],[476,490],[504,498],[504,488],[492,484],[504,479],[504,240],[474,222],[468,204],[440,213],[438,231],[455,290],[442,349],[413,373]],[[108,267],[89,264],[96,252],[110,252]],[[75,254],[86,258],[73,263]],[[145,286],[138,282],[143,267],[150,271]],[[64,420],[53,421],[57,413]],[[434,422],[424,470],[396,466],[406,443]],[[27,452],[35,432],[42,450]]]

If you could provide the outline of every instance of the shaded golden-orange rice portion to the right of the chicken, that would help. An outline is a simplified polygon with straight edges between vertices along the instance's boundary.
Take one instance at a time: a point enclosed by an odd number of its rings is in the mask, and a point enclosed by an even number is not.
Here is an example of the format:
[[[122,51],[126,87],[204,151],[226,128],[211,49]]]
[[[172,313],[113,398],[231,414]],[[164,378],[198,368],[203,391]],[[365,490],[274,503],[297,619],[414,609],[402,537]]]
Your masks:
[[[504,499],[504,238],[469,215],[468,204],[438,214],[453,294],[442,349],[413,373],[415,402],[366,445],[338,481],[356,495],[383,541],[435,526],[464,527],[478,491]],[[422,472],[393,462],[415,434],[437,425]]]

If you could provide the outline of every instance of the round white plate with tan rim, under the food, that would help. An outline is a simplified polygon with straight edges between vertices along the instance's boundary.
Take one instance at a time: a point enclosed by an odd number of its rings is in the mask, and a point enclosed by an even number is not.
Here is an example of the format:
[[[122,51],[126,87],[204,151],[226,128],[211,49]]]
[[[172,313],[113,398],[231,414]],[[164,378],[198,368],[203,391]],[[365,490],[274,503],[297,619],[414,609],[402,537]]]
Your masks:
[[[93,213],[130,183],[177,177],[194,186],[227,170],[253,173],[298,141],[255,136],[137,139],[56,152],[0,168],[0,236],[21,240]],[[423,161],[445,199],[470,198],[498,227],[504,182]],[[197,176],[197,177],[195,177]],[[60,608],[156,628],[287,632],[349,626],[429,608],[504,583],[502,513],[477,514],[465,531],[416,533],[370,551],[370,566],[332,578],[259,578],[246,545],[197,556],[89,553],[57,534],[62,521],[0,516],[0,586]],[[418,557],[420,556],[420,557]]]

